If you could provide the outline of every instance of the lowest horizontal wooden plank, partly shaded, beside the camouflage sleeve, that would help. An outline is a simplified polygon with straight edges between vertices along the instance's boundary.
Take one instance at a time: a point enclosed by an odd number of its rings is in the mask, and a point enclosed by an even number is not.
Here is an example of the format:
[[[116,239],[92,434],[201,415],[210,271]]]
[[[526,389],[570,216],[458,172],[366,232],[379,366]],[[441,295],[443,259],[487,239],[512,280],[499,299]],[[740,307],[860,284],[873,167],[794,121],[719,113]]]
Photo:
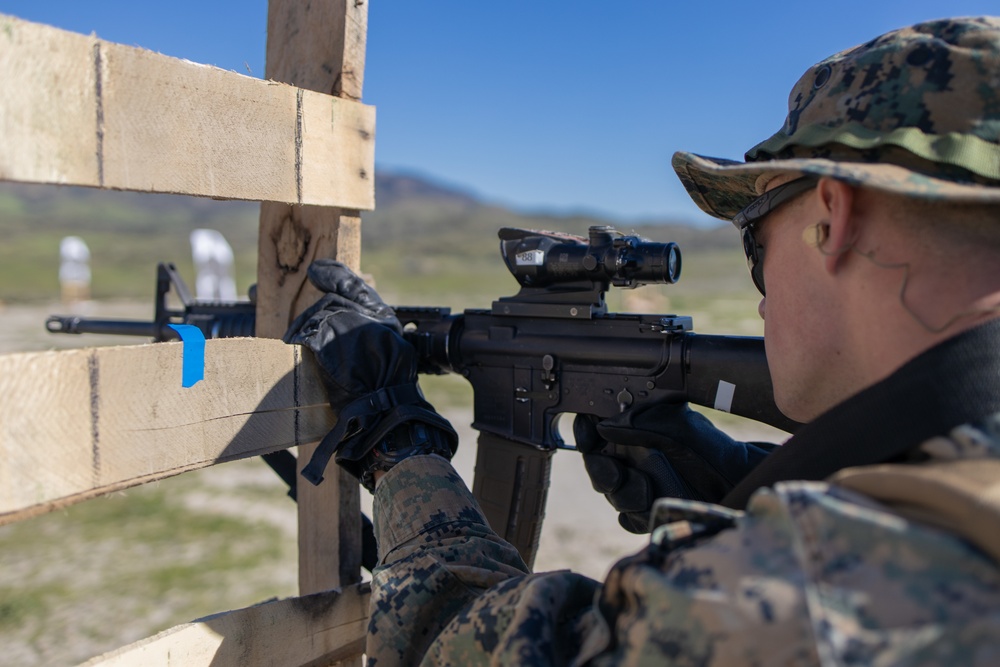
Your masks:
[[[371,589],[276,600],[179,625],[83,667],[329,665],[364,652]]]

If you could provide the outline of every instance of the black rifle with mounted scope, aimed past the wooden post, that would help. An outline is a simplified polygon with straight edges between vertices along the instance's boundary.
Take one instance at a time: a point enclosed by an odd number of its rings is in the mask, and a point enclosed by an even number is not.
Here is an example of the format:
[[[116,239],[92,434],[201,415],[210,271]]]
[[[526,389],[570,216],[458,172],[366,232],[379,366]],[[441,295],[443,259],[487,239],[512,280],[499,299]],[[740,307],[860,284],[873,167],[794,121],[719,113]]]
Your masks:
[[[560,414],[606,419],[646,403],[689,401],[786,431],[799,426],[774,405],[762,338],[696,335],[690,317],[608,312],[604,295],[612,285],[677,281],[675,244],[604,226],[591,227],[588,238],[510,228],[499,236],[507,268],[521,285],[516,295],[459,315],[449,308],[395,311],[418,351],[421,373],[458,373],[472,385],[472,425],[480,433],[473,493],[493,529],[529,565],[552,453],[570,448],[557,430]],[[183,322],[206,337],[252,335],[245,319],[252,301],[199,304],[182,296],[183,308],[169,310],[163,279],[167,287],[183,282],[171,265],[158,271],[154,322],[54,316],[46,327],[166,340],[173,337],[166,325]]]

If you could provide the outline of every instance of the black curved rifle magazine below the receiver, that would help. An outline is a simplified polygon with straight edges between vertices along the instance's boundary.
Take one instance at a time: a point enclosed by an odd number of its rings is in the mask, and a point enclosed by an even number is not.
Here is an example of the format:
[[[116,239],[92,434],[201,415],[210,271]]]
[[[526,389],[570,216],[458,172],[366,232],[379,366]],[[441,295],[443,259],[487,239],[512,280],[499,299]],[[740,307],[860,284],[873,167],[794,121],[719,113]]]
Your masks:
[[[514,545],[529,568],[542,532],[553,451],[479,434],[472,493],[490,527]]]

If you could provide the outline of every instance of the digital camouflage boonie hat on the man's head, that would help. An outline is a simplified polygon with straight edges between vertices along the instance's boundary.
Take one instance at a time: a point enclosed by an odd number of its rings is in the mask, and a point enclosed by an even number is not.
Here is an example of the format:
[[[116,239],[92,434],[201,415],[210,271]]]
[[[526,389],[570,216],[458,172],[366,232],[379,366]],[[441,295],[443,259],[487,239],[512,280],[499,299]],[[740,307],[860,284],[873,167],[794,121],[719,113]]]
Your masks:
[[[731,220],[779,174],[928,200],[1000,203],[1000,18],[920,23],[810,68],[746,162],[674,154],[688,194]]]

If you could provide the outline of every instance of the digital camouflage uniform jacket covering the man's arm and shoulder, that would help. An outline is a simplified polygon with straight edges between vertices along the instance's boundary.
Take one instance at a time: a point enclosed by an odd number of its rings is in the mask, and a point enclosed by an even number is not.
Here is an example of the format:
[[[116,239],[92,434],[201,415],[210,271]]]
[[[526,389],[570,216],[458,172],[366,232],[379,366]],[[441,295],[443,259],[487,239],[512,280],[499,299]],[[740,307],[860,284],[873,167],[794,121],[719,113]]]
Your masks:
[[[1000,417],[921,455],[895,468],[976,460],[996,471],[986,492],[1000,497]],[[990,507],[980,525],[995,532],[1000,503]],[[762,489],[745,513],[664,500],[649,547],[603,585],[528,574],[443,459],[401,463],[375,509],[379,667],[1000,664],[997,561],[975,532],[932,527],[932,503],[928,523],[824,482]]]

